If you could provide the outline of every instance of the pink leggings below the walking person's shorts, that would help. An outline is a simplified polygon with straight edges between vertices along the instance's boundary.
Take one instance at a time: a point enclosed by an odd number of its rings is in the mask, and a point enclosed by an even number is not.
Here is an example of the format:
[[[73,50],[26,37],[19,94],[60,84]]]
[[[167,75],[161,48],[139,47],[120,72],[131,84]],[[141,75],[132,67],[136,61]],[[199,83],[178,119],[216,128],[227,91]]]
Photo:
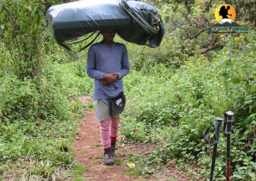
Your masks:
[[[118,128],[120,127],[120,118],[111,116],[108,119],[100,121],[101,144],[104,149],[111,147],[110,142],[116,141]]]

